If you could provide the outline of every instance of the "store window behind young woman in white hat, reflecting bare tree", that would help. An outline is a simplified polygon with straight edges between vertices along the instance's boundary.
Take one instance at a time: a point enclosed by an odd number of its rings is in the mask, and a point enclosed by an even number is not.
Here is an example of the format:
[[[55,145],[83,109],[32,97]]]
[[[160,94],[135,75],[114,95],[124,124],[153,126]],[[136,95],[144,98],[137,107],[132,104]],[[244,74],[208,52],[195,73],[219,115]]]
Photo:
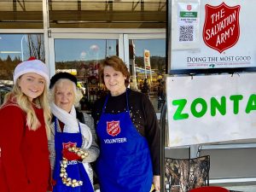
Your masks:
[[[0,34],[0,104],[14,84],[15,67],[31,56],[44,61],[43,34]]]

